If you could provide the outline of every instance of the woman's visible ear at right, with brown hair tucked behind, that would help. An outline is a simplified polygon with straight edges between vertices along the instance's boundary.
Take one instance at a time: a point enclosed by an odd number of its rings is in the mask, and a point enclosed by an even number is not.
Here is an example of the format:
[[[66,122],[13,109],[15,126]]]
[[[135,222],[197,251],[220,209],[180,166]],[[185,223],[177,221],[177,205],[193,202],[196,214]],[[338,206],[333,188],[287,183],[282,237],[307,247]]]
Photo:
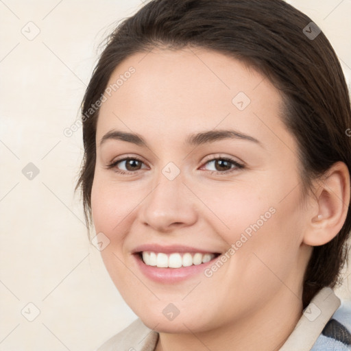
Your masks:
[[[303,241],[311,246],[328,243],[337,236],[346,220],[350,204],[348,167],[344,162],[336,162],[317,183]]]

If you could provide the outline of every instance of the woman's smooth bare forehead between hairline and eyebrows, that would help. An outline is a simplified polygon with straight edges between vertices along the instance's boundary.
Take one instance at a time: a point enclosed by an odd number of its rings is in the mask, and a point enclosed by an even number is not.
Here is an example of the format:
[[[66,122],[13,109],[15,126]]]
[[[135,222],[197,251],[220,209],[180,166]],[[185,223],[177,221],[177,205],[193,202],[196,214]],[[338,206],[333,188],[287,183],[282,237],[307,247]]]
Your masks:
[[[176,141],[215,128],[235,128],[257,138],[285,133],[282,98],[269,80],[239,60],[206,49],[136,53],[117,66],[104,95],[97,140],[114,128]]]

